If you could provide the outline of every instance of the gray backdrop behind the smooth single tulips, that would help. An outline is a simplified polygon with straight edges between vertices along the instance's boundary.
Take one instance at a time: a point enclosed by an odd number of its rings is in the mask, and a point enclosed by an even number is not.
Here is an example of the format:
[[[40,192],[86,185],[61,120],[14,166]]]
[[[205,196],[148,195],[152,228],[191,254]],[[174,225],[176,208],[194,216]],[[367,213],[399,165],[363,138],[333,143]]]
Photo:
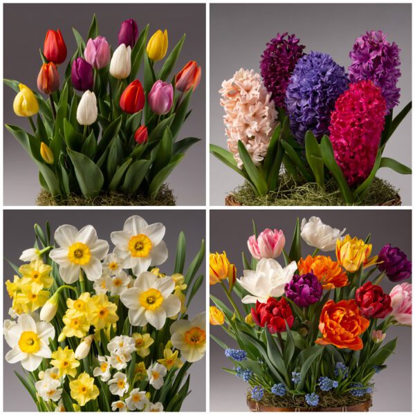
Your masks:
[[[68,57],[64,68],[76,48],[72,28],[85,38],[93,13],[98,18],[100,35],[106,37],[115,49],[118,46],[118,30],[125,19],[135,19],[138,31],[147,23],[149,37],[156,30],[167,28],[169,49],[174,48],[183,33],[186,40],[174,71],[180,71],[189,61],[202,66],[202,78],[190,103],[192,115],[183,125],[178,138],[198,137],[202,141],[187,151],[185,158],[167,179],[174,190],[178,205],[205,205],[205,5],[204,4],[6,4],[3,8],[3,75],[19,80],[37,91],[37,74],[41,66],[39,48],[43,48],[49,28],[62,31]],[[52,25],[52,26],[51,26]],[[19,28],[19,35],[16,29]],[[156,68],[160,62],[156,63]],[[142,68],[138,74],[142,80]],[[19,125],[31,131],[26,118],[15,116],[12,103],[15,92],[4,87],[4,122]],[[3,128],[4,136],[4,204],[34,205],[40,190],[35,164],[17,140]]]

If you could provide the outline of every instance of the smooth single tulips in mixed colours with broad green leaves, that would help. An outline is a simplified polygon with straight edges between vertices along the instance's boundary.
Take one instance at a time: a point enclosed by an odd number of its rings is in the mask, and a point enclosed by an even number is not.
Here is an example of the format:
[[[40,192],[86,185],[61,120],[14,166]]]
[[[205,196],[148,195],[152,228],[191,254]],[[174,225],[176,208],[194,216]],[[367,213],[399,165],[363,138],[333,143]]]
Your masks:
[[[149,26],[139,34],[133,19],[122,22],[116,50],[100,35],[95,15],[86,41],[75,28],[73,34],[77,49],[59,75],[66,45],[59,29],[48,30],[39,92],[4,80],[17,92],[16,115],[26,117],[33,131],[6,128],[39,168],[39,182],[52,201],[119,194],[151,204],[185,151],[199,141],[178,136],[201,67],[190,61],[174,73],[185,35],[167,55],[167,30],[147,41]]]

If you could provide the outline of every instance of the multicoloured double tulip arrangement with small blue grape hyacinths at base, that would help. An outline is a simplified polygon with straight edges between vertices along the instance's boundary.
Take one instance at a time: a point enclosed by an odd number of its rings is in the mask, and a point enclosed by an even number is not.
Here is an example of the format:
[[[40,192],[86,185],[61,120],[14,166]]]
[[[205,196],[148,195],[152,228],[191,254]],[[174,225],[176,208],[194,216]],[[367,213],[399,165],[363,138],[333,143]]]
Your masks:
[[[396,347],[397,338],[385,340],[388,329],[412,324],[412,284],[403,282],[412,262],[389,244],[372,256],[370,235],[344,232],[315,216],[297,220],[288,250],[281,230],[257,234],[254,225],[239,279],[225,252],[210,254],[210,285],[229,300],[211,295],[210,324],[237,348],[213,329],[211,337],[230,359],[225,371],[248,383],[252,410],[369,408],[372,378]],[[301,240],[315,248],[311,255]],[[385,277],[400,283],[389,294]]]

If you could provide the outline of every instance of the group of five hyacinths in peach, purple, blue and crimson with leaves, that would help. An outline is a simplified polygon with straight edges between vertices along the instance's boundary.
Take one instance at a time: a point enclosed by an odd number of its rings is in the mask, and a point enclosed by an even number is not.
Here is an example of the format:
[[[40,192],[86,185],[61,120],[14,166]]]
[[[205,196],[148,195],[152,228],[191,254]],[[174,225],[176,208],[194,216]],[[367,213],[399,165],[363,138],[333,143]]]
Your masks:
[[[321,203],[336,193],[342,204],[364,204],[381,167],[411,174],[382,156],[412,108],[409,102],[393,116],[400,49],[386,38],[381,30],[358,37],[348,74],[330,55],[304,54],[295,35],[278,34],[261,56],[261,75],[241,68],[223,81],[228,150],[210,145],[211,153],[244,178],[253,198],[275,203],[306,186]]]

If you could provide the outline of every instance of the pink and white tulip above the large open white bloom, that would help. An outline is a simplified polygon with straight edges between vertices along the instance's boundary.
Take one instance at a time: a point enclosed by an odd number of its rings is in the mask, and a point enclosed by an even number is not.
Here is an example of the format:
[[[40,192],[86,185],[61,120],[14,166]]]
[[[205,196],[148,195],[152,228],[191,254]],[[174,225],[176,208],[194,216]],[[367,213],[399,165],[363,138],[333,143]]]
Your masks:
[[[285,245],[285,237],[282,230],[266,229],[262,231],[258,238],[255,235],[248,239],[248,249],[255,259],[277,258]]]

